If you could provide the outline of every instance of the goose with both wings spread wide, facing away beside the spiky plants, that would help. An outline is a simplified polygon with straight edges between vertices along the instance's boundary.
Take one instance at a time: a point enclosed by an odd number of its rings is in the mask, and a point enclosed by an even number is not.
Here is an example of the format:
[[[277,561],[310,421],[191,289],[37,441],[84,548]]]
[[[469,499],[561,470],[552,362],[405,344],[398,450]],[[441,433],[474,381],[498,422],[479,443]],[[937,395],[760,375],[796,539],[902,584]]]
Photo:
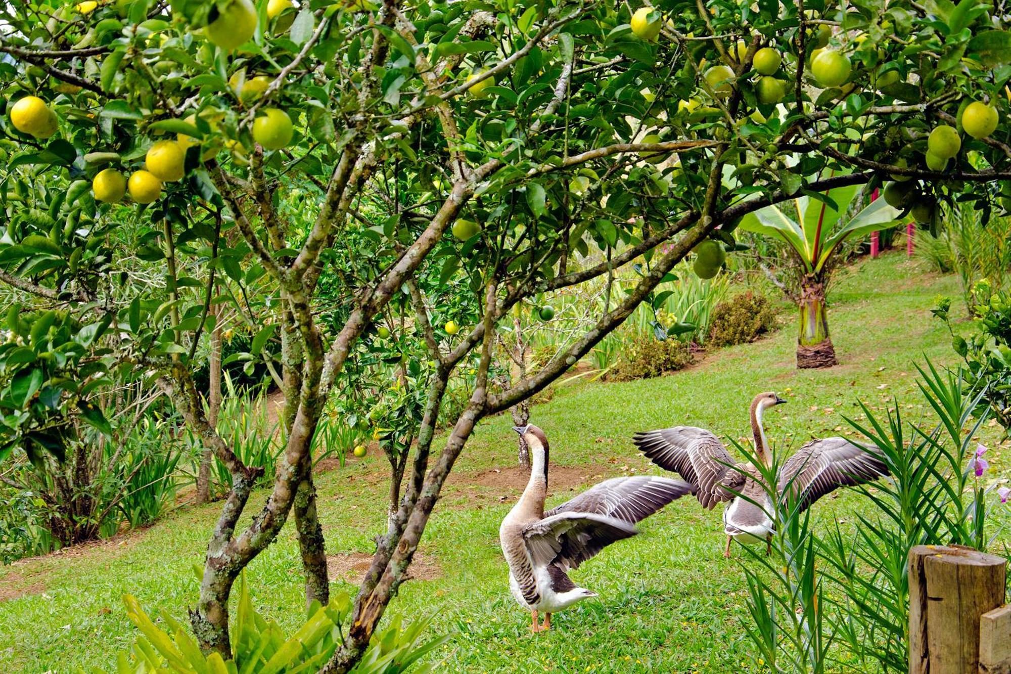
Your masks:
[[[771,466],[772,455],[762,415],[785,402],[774,393],[758,394],[751,402],[755,456],[766,468]],[[730,557],[730,541],[734,538],[743,543],[771,541],[775,532],[771,518],[774,507],[761,473],[747,461],[735,465],[714,433],[695,426],[675,426],[636,433],[633,441],[651,461],[690,482],[704,508],[712,510],[717,503],[730,501],[723,513],[727,534],[724,557]],[[887,476],[888,467],[876,450],[842,437],[812,440],[780,467],[776,489],[780,494],[790,489],[803,511],[839,487]]]

